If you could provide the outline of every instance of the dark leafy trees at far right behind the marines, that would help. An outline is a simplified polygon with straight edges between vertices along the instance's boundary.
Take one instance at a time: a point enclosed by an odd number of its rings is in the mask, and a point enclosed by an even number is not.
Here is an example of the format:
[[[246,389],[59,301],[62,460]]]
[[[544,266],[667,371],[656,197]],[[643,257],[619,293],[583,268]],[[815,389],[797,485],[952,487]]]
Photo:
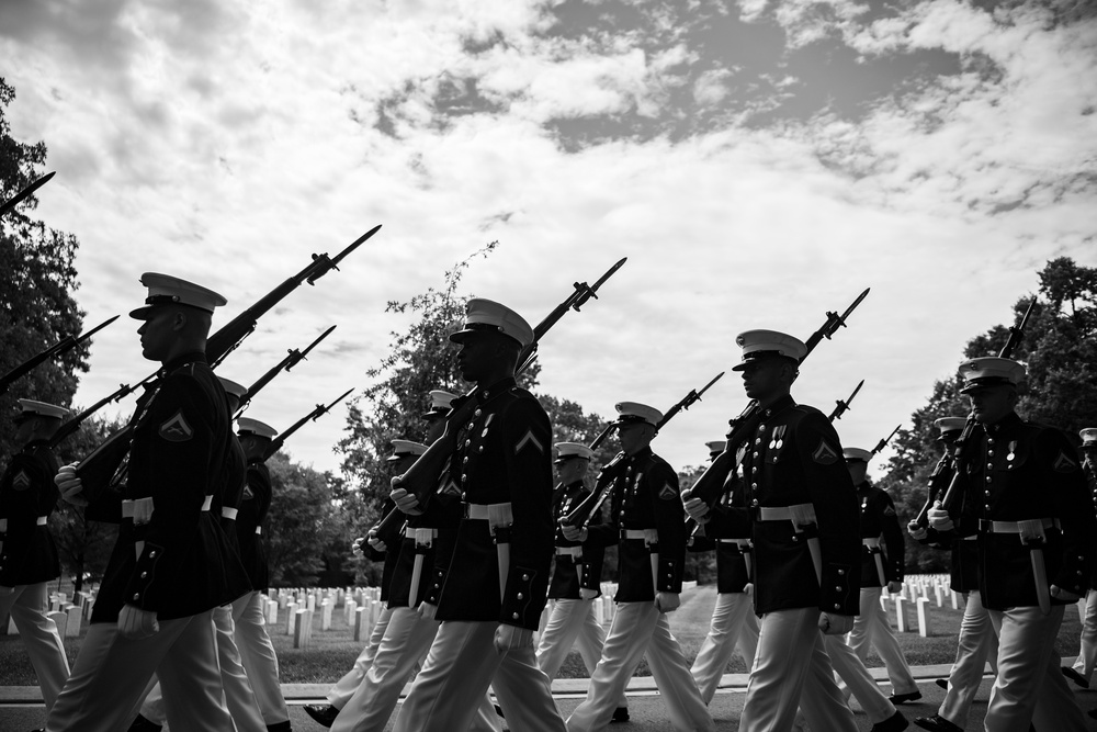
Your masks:
[[[1064,430],[1076,440],[1079,429],[1097,426],[1097,268],[1082,267],[1062,257],[1039,273],[1040,291],[1025,337],[1010,353],[1022,361],[1027,376],[1017,412],[1026,419]],[[1032,302],[1026,295],[1014,305],[1009,325],[998,325],[972,338],[963,358],[997,356]],[[935,382],[925,406],[911,416],[892,442],[895,454],[880,487],[887,489],[904,520],[913,519],[926,500],[928,476],[941,455],[934,420],[966,416],[968,399],[960,394],[959,375]],[[907,542],[907,567],[943,571],[948,558]]]

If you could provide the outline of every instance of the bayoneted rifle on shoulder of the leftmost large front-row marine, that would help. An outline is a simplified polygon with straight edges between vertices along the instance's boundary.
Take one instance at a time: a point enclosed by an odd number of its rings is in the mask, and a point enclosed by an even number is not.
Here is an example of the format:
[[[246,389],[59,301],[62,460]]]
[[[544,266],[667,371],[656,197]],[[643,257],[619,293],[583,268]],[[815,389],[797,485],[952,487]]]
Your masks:
[[[339,269],[337,264],[342,259],[354,251],[363,241],[376,234],[381,225],[374,226],[369,232],[360,236],[349,247],[343,249],[333,259],[325,255],[313,255],[313,261],[301,270],[296,275],[274,288],[265,294],[255,305],[233,318],[227,325],[218,329],[206,339],[206,359],[211,368],[216,368],[225,357],[236,349],[240,342],[256,329],[259,318],[285,299],[291,292],[301,286],[302,282],[314,284],[316,280],[327,274],[332,269]],[[144,383],[144,382],[143,382]],[[89,492],[89,498],[99,495],[103,487],[115,475],[115,470],[125,459],[129,451],[131,435],[133,425],[126,425],[123,429],[111,435],[106,440],[95,448],[90,455],[80,461],[76,472],[83,482],[84,491]]]

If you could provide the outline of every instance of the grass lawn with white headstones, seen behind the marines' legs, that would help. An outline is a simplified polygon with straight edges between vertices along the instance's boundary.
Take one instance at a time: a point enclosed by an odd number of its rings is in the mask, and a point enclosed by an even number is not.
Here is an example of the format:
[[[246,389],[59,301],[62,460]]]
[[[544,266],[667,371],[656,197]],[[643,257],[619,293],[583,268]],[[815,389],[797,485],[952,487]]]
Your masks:
[[[53,589],[53,587],[50,587]],[[63,590],[71,588],[61,588]],[[715,603],[715,586],[705,585],[688,590],[682,595],[682,606],[670,613],[670,628],[681,644],[686,658],[692,663],[709,632],[709,619]],[[917,633],[917,612],[914,607],[907,607],[907,628],[914,632],[898,633],[900,645],[912,666],[927,664],[949,664],[955,657],[957,634],[960,628],[962,610],[952,610],[948,599],[945,607],[938,608],[930,604],[930,637],[920,638]],[[332,626],[328,631],[320,631],[319,612],[314,618],[312,646],[307,651],[293,647],[293,637],[285,632],[285,610],[279,615],[279,623],[268,629],[274,647],[278,651],[281,666],[282,683],[296,684],[330,684],[335,683],[349,669],[358,657],[364,642],[355,642],[353,627],[348,627],[342,608],[332,612]],[[892,626],[894,627],[894,618]],[[87,629],[82,629],[78,638],[65,639],[66,652],[71,664],[76,660],[80,643]],[[1055,644],[1060,655],[1074,656],[1078,653],[1078,638],[1082,626],[1074,607],[1067,607],[1063,627]],[[882,665],[874,654],[869,655],[869,666]],[[746,665],[733,655],[727,665],[728,673],[743,673]],[[646,676],[651,672],[646,662],[642,663],[638,675]],[[586,677],[587,671],[579,654],[572,652],[561,668],[562,678]],[[0,635],[0,686],[34,686],[34,671],[30,658],[18,635]]]

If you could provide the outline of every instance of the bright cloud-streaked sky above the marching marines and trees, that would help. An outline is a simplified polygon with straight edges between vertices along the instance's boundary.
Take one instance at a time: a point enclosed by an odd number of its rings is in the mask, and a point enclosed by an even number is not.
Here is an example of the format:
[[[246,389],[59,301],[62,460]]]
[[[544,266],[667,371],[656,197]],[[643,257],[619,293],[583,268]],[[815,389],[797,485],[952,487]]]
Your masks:
[[[383,225],[218,369],[248,383],[337,326],[251,405],[278,429],[369,386],[408,325],[386,303],[489,241],[462,292],[534,325],[629,258],[545,336],[542,393],[609,417],[727,371],[656,438],[678,468],[746,405],[740,331],[806,339],[871,288],[793,390],[828,413],[863,379],[836,426],[871,449],[1049,259],[1097,266],[1085,0],[3,0],[0,58],[89,325],[145,271],[223,293],[226,323]],[[95,337],[77,405],[150,373],[136,325]],[[287,449],[338,470],[344,428]]]

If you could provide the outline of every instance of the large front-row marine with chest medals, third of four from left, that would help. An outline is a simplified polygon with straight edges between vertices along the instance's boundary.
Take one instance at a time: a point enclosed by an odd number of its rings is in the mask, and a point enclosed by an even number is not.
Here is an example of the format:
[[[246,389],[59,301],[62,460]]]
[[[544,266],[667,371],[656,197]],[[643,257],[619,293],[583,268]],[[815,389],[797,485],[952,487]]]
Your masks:
[[[799,705],[812,730],[853,732],[819,633],[844,634],[857,615],[853,484],[829,420],[791,396],[806,345],[776,330],[748,330],[736,344],[743,360],[733,370],[760,410],[743,455],[745,505],[710,509],[693,496],[685,505],[708,536],[754,541],[761,632],[739,730],[788,730]]]

